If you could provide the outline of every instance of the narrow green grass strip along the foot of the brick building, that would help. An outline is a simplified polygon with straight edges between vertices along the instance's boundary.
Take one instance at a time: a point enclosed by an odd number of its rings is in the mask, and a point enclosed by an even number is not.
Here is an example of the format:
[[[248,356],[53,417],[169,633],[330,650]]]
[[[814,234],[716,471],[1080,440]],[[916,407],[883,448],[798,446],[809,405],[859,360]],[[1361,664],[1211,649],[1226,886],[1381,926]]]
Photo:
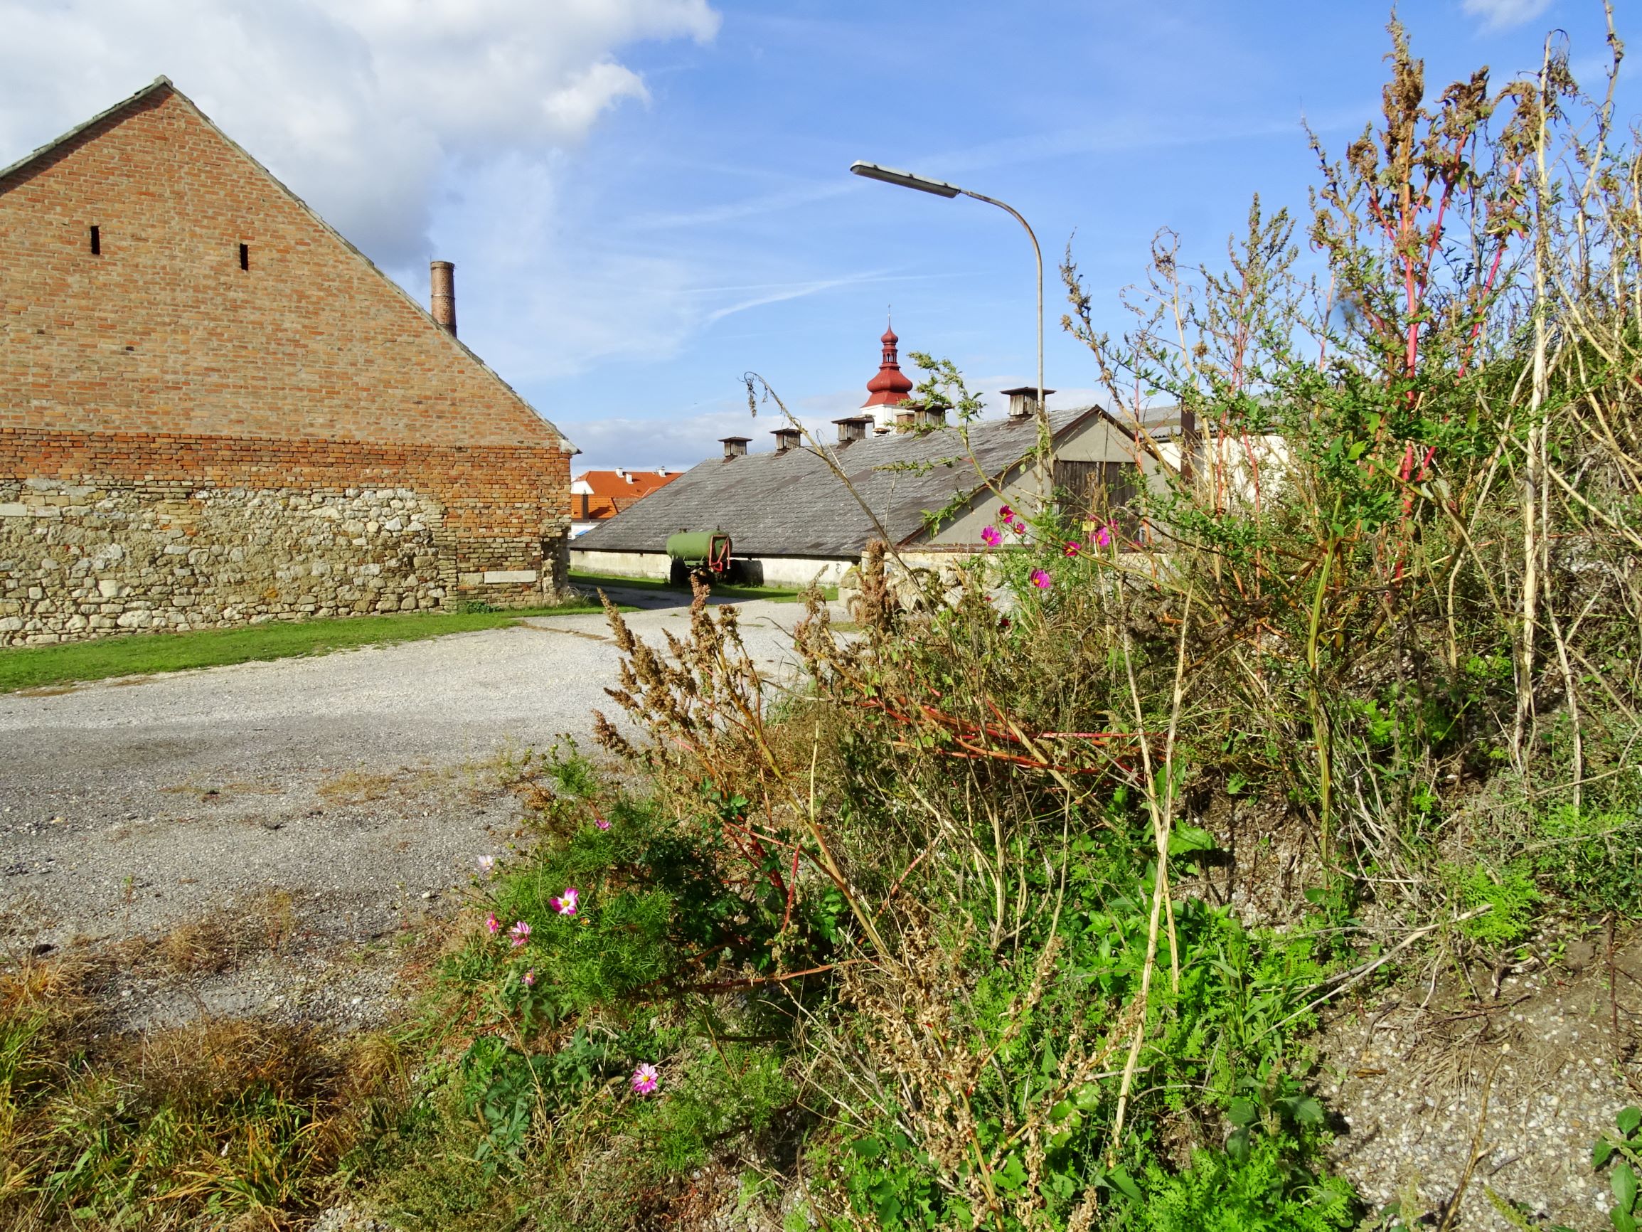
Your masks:
[[[21,646],[0,650],[0,693],[43,688],[117,675],[154,675],[189,667],[223,667],[266,659],[330,654],[355,646],[388,646],[448,632],[496,629],[524,616],[566,616],[598,611],[596,603],[557,608],[512,608],[475,613],[404,613],[350,619],[256,624],[248,629],[197,629],[102,637],[62,646]]]

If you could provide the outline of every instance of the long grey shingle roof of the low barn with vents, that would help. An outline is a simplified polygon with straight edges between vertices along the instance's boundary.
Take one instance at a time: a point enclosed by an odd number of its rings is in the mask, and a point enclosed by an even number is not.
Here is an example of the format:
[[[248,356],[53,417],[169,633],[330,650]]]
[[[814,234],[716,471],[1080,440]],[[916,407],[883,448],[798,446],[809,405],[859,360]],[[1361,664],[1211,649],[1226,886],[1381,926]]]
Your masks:
[[[1098,414],[1053,411],[1056,437]],[[969,448],[992,478],[1038,444],[1033,419],[969,425]],[[956,427],[867,437],[826,447],[893,542],[923,531],[924,511],[982,486]],[[713,458],[576,539],[576,550],[660,552],[675,531],[727,531],[736,555],[847,557],[877,537],[872,519],[810,448]]]

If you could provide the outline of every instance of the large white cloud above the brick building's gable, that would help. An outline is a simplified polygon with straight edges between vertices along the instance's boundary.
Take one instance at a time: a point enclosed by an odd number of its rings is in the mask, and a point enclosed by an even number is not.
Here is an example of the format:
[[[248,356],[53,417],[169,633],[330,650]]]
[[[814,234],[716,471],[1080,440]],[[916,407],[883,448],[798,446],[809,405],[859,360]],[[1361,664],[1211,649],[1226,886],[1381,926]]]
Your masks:
[[[164,74],[343,235],[409,264],[443,164],[575,145],[647,99],[624,48],[718,23],[708,0],[0,0],[0,164]]]

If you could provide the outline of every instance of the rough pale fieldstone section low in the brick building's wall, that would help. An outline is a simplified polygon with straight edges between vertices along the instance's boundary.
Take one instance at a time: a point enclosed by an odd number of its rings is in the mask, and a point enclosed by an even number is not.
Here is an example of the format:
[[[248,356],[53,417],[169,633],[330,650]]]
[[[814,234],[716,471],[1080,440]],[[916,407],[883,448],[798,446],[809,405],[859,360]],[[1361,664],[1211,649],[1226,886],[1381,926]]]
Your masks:
[[[0,642],[437,608],[442,534],[409,488],[0,480]]]

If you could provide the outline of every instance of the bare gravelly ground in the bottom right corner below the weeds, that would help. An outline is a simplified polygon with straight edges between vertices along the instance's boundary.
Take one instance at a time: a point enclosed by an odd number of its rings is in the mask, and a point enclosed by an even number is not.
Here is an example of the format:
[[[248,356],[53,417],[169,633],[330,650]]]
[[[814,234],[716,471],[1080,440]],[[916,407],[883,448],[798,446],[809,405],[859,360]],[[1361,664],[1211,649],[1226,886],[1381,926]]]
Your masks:
[[[1323,1087],[1345,1119],[1333,1155],[1376,1207],[1442,1221],[1473,1158],[1456,1229],[1611,1229],[1608,1175],[1591,1143],[1637,1104],[1642,941],[1576,940],[1565,961],[1498,981],[1475,968],[1399,989],[1323,1033]],[[1475,991],[1473,991],[1475,986]],[[1486,1099],[1486,1119],[1484,1119]],[[1520,1224],[1517,1224],[1520,1227]]]

